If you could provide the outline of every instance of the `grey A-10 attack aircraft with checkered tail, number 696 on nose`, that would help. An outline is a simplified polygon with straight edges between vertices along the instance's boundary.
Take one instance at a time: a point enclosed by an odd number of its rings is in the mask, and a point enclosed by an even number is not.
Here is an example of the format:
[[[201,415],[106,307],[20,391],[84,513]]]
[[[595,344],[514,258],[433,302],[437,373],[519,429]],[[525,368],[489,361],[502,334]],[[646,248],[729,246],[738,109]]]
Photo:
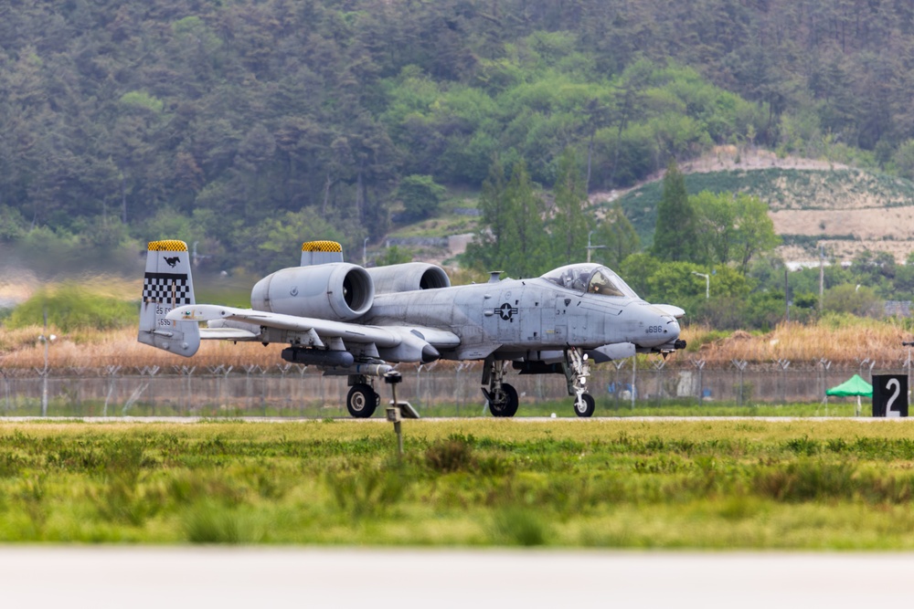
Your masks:
[[[183,241],[149,244],[138,340],[190,357],[201,339],[287,343],[282,359],[348,376],[346,408],[374,414],[373,381],[398,362],[481,360],[494,416],[513,416],[505,383],[521,374],[564,374],[575,413],[593,415],[590,362],[685,348],[684,311],[639,298],[598,264],[573,264],[539,278],[451,286],[441,267],[412,262],[362,268],[343,262],[333,241],[303,244],[302,264],[260,279],[250,309],[197,304]],[[200,321],[207,321],[201,328]]]

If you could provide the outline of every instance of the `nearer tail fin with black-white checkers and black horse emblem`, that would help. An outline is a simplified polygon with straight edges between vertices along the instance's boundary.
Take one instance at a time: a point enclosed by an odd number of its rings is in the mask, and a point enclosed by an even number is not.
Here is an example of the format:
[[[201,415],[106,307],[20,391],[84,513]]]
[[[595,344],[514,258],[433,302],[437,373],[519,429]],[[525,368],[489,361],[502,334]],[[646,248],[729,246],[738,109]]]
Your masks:
[[[165,316],[173,309],[192,304],[197,302],[187,244],[176,240],[150,242],[137,340],[190,357],[200,347],[197,321],[173,321]]]

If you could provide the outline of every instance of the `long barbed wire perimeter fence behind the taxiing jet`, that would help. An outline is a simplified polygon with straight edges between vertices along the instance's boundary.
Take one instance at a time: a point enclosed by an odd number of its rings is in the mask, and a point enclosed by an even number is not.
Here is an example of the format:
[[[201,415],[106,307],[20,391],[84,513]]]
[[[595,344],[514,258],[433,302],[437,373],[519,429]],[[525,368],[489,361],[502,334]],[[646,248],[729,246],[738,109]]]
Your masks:
[[[480,362],[435,362],[400,366],[398,389],[420,412],[437,409],[442,415],[480,415],[485,402],[479,390]],[[609,362],[594,366],[588,387],[600,411],[632,409],[636,405],[788,404],[824,401],[832,384],[854,373],[871,380],[874,373],[914,370],[910,354],[900,360],[856,360],[843,367],[820,359],[768,363],[733,360],[710,367],[700,358],[669,365],[661,359]],[[509,374],[521,404],[569,402],[564,375]],[[345,376],[324,376],[314,367],[280,363],[233,367],[158,366],[130,368],[112,364],[101,369],[25,370],[0,368],[0,415],[68,416],[337,416],[346,415]],[[381,404],[389,395],[374,380]],[[914,383],[909,383],[914,386]],[[402,392],[402,393],[400,393]],[[570,402],[569,402],[570,404]],[[558,406],[557,406],[558,407]]]

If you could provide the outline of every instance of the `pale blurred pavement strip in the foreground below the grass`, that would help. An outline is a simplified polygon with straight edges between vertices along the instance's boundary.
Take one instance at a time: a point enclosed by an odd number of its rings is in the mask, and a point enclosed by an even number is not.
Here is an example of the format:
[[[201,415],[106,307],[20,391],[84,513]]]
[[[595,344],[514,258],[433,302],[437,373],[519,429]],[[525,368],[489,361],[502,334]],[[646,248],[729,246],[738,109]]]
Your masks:
[[[4,607],[863,607],[914,554],[0,547]]]

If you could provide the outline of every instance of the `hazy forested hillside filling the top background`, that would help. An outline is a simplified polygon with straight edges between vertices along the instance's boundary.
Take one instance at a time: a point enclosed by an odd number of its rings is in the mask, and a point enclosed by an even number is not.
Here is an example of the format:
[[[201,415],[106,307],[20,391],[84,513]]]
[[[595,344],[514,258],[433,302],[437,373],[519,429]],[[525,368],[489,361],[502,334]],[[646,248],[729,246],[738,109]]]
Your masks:
[[[591,191],[720,143],[909,175],[912,48],[897,0],[4,3],[0,239],[262,271],[383,235],[407,176],[551,188],[568,147]]]

